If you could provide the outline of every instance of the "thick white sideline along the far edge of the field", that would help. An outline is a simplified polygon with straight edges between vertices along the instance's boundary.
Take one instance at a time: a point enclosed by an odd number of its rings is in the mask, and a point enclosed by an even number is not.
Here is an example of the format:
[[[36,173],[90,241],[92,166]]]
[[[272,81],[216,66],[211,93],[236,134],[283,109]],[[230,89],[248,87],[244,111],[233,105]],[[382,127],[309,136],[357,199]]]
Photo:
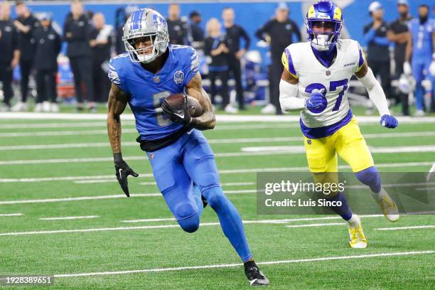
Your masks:
[[[107,120],[107,114],[71,114],[71,113],[33,113],[33,112],[4,112],[0,114],[0,119],[63,119],[63,120]],[[122,121],[134,121],[133,114],[122,114]],[[434,123],[435,117],[402,117],[398,116],[399,124],[416,124],[416,123]],[[299,122],[298,115],[232,115],[217,114],[218,122]],[[379,123],[380,117],[377,116],[360,116],[359,123]]]

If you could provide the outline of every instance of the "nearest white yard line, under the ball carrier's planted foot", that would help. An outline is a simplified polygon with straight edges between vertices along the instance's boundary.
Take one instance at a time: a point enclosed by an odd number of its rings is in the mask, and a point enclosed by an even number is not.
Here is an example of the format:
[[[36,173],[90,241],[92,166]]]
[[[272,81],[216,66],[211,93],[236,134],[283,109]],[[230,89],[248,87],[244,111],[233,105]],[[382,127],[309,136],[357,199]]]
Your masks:
[[[259,265],[273,265],[273,264],[291,264],[291,263],[307,263],[307,262],[323,262],[345,259],[367,259],[374,257],[400,257],[412,256],[418,254],[434,254],[435,251],[413,251],[413,252],[392,252],[392,253],[379,253],[379,254],[356,254],[353,256],[336,256],[336,257],[318,257],[309,259],[290,259],[281,261],[270,262],[257,262]],[[55,278],[68,278],[77,276],[104,276],[104,275],[118,275],[118,274],[134,274],[134,273],[150,273],[150,272],[175,272],[186,270],[200,270],[200,269],[218,269],[218,268],[233,268],[242,267],[243,264],[210,264],[202,266],[186,266],[186,267],[171,267],[171,268],[157,268],[157,269],[137,269],[137,270],[124,270],[124,271],[110,271],[110,272],[93,272],[93,273],[75,273],[75,274],[55,274]]]

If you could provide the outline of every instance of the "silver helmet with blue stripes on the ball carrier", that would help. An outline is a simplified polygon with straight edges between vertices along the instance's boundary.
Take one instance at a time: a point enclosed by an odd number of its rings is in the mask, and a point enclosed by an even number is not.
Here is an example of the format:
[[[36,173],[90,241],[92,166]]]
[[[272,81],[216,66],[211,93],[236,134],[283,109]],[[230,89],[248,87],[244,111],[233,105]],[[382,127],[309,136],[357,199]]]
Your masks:
[[[134,11],[124,25],[125,50],[129,53],[131,61],[135,63],[151,63],[168,48],[168,23],[159,12],[153,9],[139,9]],[[147,38],[151,45],[145,48],[136,48],[139,38]],[[146,53],[152,48],[151,53]]]

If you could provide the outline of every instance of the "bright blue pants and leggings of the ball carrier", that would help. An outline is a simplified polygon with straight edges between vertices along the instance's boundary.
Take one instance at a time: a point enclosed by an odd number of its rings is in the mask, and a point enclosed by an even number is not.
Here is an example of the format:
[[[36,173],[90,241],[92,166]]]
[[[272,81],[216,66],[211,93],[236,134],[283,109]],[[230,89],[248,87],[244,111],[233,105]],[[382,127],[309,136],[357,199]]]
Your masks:
[[[183,230],[198,230],[203,195],[218,214],[222,231],[242,261],[252,257],[242,219],[220,188],[213,151],[200,131],[194,129],[175,143],[147,155],[157,186]]]

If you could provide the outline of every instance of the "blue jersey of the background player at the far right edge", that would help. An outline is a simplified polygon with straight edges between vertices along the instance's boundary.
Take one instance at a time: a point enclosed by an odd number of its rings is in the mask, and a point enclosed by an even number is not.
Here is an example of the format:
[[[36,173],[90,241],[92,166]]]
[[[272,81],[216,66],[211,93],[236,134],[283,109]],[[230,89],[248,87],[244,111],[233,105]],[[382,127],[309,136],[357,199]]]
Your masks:
[[[409,31],[412,33],[412,57],[430,58],[434,52],[432,33],[435,32],[435,19],[428,19],[423,25],[419,19],[409,21]]]

